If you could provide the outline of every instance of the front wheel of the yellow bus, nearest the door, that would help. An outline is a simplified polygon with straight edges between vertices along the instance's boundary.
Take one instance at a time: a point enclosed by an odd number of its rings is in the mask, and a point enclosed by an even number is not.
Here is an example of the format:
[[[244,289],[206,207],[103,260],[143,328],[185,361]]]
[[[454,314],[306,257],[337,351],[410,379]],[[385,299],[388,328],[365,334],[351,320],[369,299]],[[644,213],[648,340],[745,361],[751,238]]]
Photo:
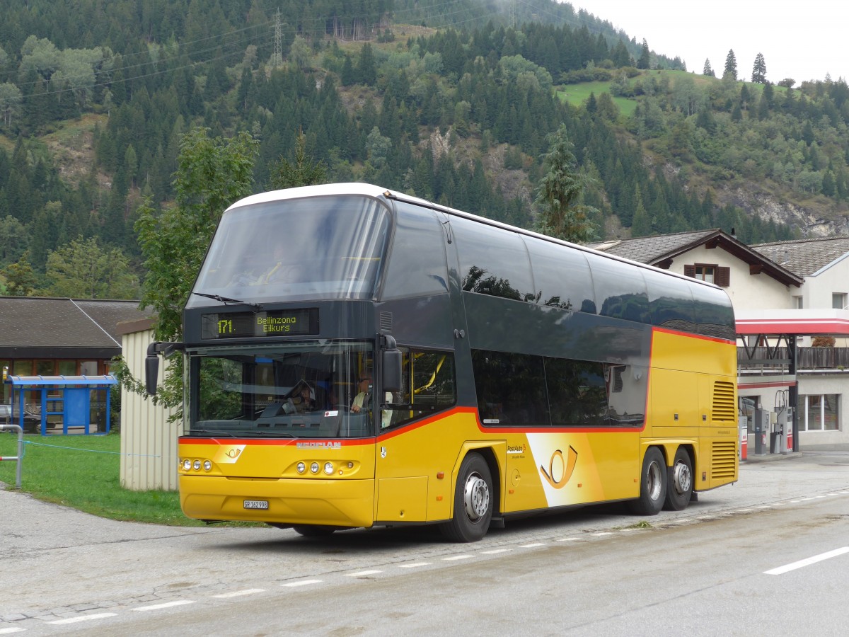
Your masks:
[[[452,542],[477,542],[492,520],[492,474],[481,454],[468,454],[460,465],[454,491],[453,517],[440,525]]]

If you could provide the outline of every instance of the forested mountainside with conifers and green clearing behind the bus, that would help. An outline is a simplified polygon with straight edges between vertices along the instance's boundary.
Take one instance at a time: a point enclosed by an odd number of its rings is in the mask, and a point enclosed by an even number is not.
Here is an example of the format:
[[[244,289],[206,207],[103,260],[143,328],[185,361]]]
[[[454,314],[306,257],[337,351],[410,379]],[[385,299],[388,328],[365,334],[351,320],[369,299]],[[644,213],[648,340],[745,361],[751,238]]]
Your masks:
[[[259,140],[257,191],[303,132],[328,181],[378,183],[530,227],[540,155],[565,124],[594,178],[584,200],[599,210],[599,238],[722,227],[762,242],[846,230],[842,78],[778,86],[756,65],[752,82],[733,52],[722,77],[688,72],[664,55],[674,52],[569,4],[0,8],[0,268],[31,266],[36,293],[65,293],[45,276],[49,257],[82,246],[132,270],[138,204],[169,205],[193,127]]]

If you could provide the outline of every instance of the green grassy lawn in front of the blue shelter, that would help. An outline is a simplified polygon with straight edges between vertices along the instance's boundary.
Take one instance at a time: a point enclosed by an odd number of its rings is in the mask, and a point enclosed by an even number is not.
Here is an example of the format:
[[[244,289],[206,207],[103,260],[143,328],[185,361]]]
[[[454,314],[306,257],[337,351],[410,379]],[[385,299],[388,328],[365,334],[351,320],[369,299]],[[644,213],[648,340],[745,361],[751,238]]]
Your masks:
[[[17,433],[0,431],[0,455],[17,454]],[[14,488],[15,465],[14,461],[0,462],[0,482],[5,482],[6,488]],[[177,492],[121,488],[120,465],[121,437],[117,434],[25,434],[21,491],[112,520],[203,526],[203,522],[183,516]]]

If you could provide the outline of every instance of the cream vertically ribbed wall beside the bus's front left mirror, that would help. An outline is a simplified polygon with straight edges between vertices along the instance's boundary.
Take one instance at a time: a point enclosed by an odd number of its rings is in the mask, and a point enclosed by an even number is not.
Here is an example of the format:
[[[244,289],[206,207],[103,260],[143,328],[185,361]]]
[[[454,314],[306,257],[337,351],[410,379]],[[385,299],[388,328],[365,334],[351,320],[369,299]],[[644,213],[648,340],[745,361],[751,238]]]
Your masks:
[[[122,336],[124,360],[132,375],[143,381],[144,358],[153,330]],[[160,366],[161,367],[161,366]],[[160,381],[162,378],[160,369]],[[121,486],[143,491],[177,489],[179,423],[169,423],[171,409],[150,397],[121,387]]]

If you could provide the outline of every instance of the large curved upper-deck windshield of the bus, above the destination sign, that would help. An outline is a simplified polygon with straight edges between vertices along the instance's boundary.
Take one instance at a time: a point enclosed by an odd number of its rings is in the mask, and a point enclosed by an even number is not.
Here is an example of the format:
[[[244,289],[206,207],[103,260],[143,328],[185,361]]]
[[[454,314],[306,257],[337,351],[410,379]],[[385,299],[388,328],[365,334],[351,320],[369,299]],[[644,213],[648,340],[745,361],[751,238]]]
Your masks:
[[[221,219],[187,308],[210,296],[244,302],[369,299],[389,211],[361,196],[241,206]]]

